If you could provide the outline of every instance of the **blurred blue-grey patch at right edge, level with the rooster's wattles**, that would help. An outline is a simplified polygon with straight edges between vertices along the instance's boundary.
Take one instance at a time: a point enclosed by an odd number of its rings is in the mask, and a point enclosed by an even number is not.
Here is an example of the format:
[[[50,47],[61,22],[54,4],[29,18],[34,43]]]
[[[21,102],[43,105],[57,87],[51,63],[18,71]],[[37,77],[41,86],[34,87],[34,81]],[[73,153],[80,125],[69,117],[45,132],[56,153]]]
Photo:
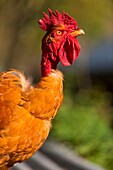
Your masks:
[[[93,74],[113,72],[113,39],[105,39],[96,45],[90,54],[90,68]]]

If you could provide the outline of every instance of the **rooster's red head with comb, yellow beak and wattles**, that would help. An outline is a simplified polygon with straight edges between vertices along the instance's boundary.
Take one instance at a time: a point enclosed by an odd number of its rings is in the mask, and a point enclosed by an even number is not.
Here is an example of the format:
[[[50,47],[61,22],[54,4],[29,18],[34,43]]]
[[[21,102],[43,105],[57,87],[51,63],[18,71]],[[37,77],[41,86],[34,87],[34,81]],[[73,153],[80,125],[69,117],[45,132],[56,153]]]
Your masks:
[[[46,58],[53,61],[53,67],[59,61],[64,66],[72,65],[80,52],[76,37],[84,31],[78,28],[76,20],[68,13],[60,14],[57,10],[53,13],[50,9],[48,12],[49,15],[43,12],[44,18],[38,21],[40,28],[47,31],[42,40],[42,51],[46,53]]]

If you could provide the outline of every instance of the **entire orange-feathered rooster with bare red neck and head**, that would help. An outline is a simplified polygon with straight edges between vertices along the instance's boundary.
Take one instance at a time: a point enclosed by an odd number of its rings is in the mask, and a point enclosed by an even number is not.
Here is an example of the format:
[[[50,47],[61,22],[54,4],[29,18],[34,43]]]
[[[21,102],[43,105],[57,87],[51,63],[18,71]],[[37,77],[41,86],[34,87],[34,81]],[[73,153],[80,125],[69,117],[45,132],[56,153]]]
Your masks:
[[[76,37],[84,34],[68,13],[48,9],[38,23],[42,39],[41,78],[35,85],[17,70],[0,73],[0,169],[30,158],[46,140],[51,120],[63,100],[61,62],[72,65],[80,52]]]

